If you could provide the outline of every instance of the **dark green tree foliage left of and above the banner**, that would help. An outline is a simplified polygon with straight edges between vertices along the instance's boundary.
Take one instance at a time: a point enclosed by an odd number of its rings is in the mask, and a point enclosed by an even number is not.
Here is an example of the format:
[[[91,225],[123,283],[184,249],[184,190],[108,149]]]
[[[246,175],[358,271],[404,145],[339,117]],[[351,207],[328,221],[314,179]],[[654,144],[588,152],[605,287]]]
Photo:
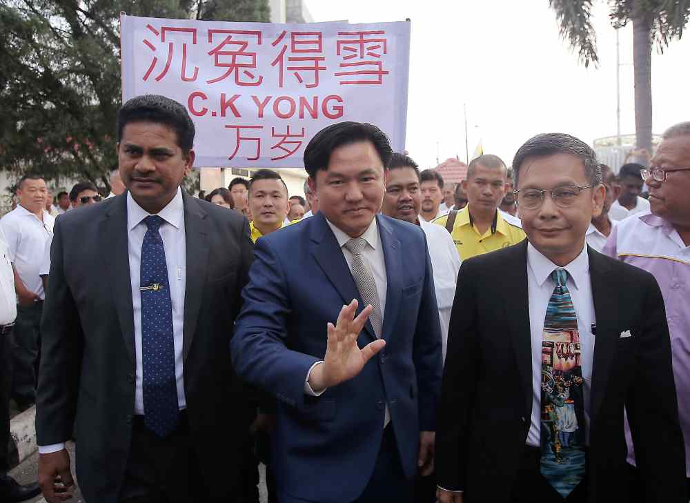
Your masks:
[[[0,0],[0,169],[107,186],[119,14],[268,21],[268,0]]]

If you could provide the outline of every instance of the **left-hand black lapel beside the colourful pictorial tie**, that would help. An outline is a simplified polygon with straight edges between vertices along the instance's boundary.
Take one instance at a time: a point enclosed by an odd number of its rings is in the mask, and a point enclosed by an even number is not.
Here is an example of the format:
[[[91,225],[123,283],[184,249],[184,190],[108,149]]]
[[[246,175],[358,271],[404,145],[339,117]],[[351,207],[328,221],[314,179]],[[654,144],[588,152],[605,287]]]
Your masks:
[[[504,309],[509,320],[513,357],[520,379],[524,417],[532,412],[532,337],[529,324],[527,288],[527,239],[513,248],[513,259],[506,262],[503,278]]]

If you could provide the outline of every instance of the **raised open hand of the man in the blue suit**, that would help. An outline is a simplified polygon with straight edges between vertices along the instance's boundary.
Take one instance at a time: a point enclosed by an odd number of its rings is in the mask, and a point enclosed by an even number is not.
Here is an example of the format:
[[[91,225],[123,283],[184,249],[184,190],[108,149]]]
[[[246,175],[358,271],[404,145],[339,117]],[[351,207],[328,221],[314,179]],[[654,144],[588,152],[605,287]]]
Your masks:
[[[309,376],[309,385],[316,392],[352,379],[362,372],[364,364],[381,351],[386,345],[383,339],[370,342],[364,348],[357,346],[357,337],[371,313],[372,307],[366,306],[355,317],[357,299],[348,306],[343,306],[335,326],[328,324],[328,346],[324,363],[313,368]]]

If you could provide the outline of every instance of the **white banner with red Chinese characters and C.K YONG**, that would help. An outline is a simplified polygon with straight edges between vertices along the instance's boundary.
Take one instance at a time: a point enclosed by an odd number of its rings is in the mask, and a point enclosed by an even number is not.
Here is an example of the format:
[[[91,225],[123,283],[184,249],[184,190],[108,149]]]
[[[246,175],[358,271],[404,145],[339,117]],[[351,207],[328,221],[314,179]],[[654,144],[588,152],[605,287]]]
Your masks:
[[[302,167],[336,121],[405,148],[410,23],[227,23],[121,17],[122,98],[186,106],[197,166]]]

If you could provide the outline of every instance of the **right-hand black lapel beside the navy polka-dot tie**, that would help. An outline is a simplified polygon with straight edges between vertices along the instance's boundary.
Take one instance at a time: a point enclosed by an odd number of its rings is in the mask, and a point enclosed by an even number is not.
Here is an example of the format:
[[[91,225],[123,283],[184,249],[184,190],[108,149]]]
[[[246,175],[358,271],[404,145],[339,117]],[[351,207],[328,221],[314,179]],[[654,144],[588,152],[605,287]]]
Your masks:
[[[184,201],[184,233],[186,250],[186,274],[184,291],[184,328],[182,330],[182,355],[186,361],[197,328],[201,297],[206,284],[208,266],[208,215],[206,211],[182,191]]]

